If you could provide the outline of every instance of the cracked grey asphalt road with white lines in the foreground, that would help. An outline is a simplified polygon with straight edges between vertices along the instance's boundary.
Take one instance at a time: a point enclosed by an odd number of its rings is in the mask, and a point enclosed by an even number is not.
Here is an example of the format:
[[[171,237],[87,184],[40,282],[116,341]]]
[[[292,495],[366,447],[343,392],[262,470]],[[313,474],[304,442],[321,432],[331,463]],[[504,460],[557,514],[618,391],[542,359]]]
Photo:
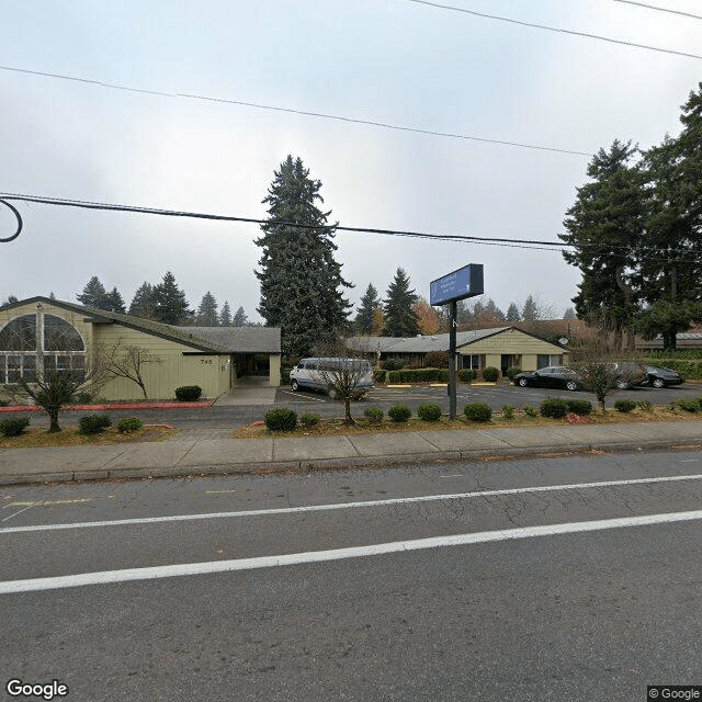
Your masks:
[[[702,683],[701,501],[702,452],[7,488],[0,676],[91,701],[643,701]]]

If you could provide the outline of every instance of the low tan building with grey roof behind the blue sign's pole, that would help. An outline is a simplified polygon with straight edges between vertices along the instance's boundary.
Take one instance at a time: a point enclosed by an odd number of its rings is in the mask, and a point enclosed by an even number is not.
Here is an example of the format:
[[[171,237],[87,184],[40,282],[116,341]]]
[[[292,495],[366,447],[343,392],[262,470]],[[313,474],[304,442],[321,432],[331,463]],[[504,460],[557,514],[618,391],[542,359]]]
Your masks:
[[[430,351],[449,351],[449,335],[435,333],[407,338],[351,337],[347,347],[377,361],[401,359],[407,364],[423,364]],[[547,365],[561,365],[567,351],[516,327],[476,329],[456,332],[458,367],[494,366],[505,373],[509,367],[536,371]]]

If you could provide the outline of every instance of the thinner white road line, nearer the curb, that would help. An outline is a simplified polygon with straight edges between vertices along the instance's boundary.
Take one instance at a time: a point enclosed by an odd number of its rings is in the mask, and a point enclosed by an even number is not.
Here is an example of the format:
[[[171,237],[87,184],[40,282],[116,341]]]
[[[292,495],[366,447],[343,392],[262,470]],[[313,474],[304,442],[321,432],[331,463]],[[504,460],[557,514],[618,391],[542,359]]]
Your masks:
[[[582,490],[598,487],[619,487],[623,485],[653,485],[656,483],[678,483],[680,480],[700,480],[698,475],[673,475],[658,478],[633,478],[630,480],[602,480],[598,483],[574,483],[570,485],[545,485],[543,487],[519,487],[505,490],[478,490],[475,492],[452,492],[448,495],[422,495],[421,497],[398,497],[387,500],[367,500],[364,502],[338,502],[331,505],[305,505],[303,507],[280,507],[275,509],[252,509],[241,512],[210,512],[205,514],[172,514],[170,517],[137,517],[134,519],[113,519],[101,522],[72,522],[66,524],[32,524],[29,526],[5,526],[2,534],[18,534],[34,531],[57,531],[61,529],[88,529],[91,526],[131,526],[133,524],[158,524],[161,522],[184,522],[204,519],[233,519],[237,517],[271,517],[274,514],[295,514],[298,512],[322,512],[338,509],[359,509],[369,507],[388,507],[390,505],[410,505],[438,500],[472,499],[475,497],[495,497],[498,495],[523,495],[526,492],[554,492],[558,490]],[[27,508],[29,509],[29,508]]]

